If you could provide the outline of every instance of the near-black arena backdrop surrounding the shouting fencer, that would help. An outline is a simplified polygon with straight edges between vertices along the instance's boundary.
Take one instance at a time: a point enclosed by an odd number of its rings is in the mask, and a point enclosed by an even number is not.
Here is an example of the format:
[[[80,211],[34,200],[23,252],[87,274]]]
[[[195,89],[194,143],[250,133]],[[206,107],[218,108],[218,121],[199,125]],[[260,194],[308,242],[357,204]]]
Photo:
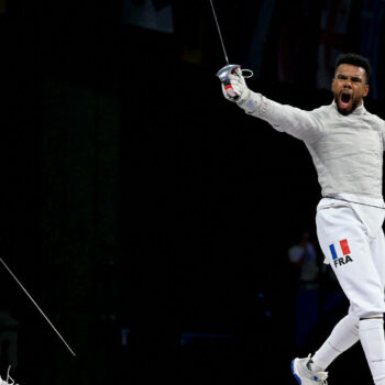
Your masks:
[[[0,15],[1,256],[77,353],[2,268],[0,307],[20,322],[11,373],[23,385],[295,383],[290,360],[314,353],[348,306],[322,308],[295,345],[287,250],[304,230],[317,245],[311,158],[222,97],[208,1],[155,3],[172,4],[173,33],[124,23],[121,1],[12,0]],[[216,2],[230,62],[255,69],[263,3]],[[302,109],[331,102],[316,80],[322,7],[310,3],[275,2],[248,80]],[[343,1],[326,3],[333,14]],[[369,2],[349,3],[338,51],[365,53]],[[385,118],[376,79],[365,106]],[[330,373],[371,383],[359,344]]]

